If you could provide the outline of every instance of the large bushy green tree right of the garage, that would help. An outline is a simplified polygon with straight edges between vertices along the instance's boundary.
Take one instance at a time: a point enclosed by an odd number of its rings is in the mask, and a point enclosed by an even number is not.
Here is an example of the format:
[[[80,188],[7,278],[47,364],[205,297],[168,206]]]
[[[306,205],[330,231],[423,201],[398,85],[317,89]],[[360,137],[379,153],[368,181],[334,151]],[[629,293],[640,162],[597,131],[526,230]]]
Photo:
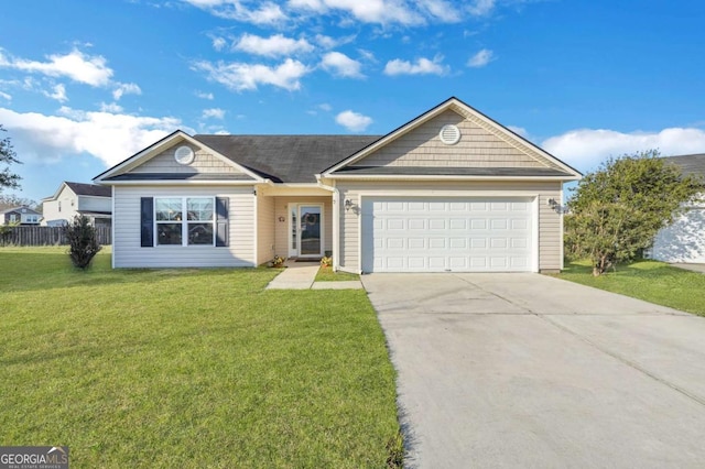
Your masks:
[[[703,189],[699,181],[650,150],[609,159],[586,175],[568,201],[565,246],[573,258],[589,258],[593,275],[649,248],[683,205]]]

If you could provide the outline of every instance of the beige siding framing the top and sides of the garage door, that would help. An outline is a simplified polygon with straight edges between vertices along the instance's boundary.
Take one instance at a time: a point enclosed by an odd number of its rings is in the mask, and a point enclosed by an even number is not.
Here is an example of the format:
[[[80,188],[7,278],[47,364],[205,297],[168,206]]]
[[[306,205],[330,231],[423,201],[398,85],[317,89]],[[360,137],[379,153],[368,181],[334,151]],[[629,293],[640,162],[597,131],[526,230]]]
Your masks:
[[[558,182],[355,182],[338,183],[340,199],[350,199],[361,207],[362,195],[384,196],[535,196],[539,195],[539,270],[560,270],[562,268],[561,215],[553,210],[547,200],[560,200]],[[346,210],[340,204],[340,269],[359,272],[361,260],[360,219],[354,209]]]

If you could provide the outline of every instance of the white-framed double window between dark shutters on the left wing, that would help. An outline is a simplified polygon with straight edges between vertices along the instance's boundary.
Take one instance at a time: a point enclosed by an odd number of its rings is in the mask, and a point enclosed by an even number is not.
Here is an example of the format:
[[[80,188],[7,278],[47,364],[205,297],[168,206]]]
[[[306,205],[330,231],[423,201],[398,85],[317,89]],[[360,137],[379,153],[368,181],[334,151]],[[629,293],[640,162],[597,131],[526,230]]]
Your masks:
[[[215,197],[155,197],[156,246],[215,246]]]

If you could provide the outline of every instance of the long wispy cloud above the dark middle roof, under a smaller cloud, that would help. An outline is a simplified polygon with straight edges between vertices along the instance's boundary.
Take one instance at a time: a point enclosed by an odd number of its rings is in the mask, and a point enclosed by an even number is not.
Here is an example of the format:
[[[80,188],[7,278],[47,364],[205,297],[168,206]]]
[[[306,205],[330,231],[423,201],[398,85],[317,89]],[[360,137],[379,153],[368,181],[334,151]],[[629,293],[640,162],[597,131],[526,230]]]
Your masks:
[[[205,72],[207,78],[236,90],[252,90],[259,85],[271,85],[288,90],[301,88],[301,78],[311,70],[304,64],[292,58],[285,59],[279,66],[270,67],[261,64],[243,64],[239,62],[197,62],[195,70]]]

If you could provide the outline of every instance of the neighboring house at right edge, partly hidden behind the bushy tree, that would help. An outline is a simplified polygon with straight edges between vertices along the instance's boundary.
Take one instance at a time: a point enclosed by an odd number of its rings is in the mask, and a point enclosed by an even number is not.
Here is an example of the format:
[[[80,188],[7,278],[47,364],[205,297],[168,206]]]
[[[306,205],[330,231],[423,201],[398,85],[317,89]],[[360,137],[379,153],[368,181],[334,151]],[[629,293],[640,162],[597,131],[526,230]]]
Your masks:
[[[668,162],[681,167],[683,174],[705,181],[705,154],[670,156]],[[705,263],[705,194],[688,205],[685,214],[657,234],[647,257],[663,262]]]

